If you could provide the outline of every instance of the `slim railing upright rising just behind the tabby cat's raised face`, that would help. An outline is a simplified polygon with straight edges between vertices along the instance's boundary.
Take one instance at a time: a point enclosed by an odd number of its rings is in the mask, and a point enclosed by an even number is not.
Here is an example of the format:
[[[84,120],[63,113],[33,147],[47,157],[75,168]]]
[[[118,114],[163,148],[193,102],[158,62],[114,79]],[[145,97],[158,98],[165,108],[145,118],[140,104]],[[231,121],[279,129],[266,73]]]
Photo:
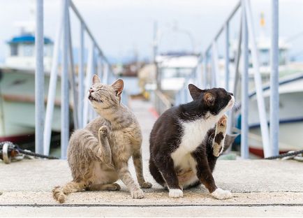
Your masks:
[[[84,104],[84,24],[80,21],[80,48],[78,67],[78,124],[83,128],[83,104]]]

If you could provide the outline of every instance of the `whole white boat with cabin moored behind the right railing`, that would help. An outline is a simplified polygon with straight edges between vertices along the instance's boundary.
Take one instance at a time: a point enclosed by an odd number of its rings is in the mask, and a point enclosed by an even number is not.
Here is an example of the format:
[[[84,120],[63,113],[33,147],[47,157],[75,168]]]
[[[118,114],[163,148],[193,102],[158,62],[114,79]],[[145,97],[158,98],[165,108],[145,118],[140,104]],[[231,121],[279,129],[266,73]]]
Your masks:
[[[261,25],[262,26],[262,25]],[[258,58],[260,61],[260,75],[263,82],[263,96],[265,99],[265,111],[267,122],[269,123],[269,79],[270,79],[270,39],[261,32],[260,37],[256,38]],[[302,150],[303,136],[303,63],[292,62],[288,55],[291,48],[289,42],[279,38],[279,152],[288,152],[290,150]],[[236,43],[232,43],[231,59],[235,59]],[[249,44],[249,50],[251,45]],[[224,78],[225,61],[219,60],[219,69],[221,78]],[[240,61],[239,71],[242,71],[242,61]],[[235,72],[235,65],[230,64],[231,78],[235,78],[232,73]],[[260,118],[258,115],[258,103],[256,99],[256,89],[254,82],[254,68],[252,67],[251,56],[249,56],[249,151],[259,157],[263,157],[263,142],[260,132]],[[241,73],[239,73],[241,78]],[[238,83],[239,85],[239,83]],[[220,86],[224,86],[221,81]],[[233,80],[230,81],[231,90],[233,89]],[[239,95],[237,101],[240,101],[240,85],[238,86]],[[237,115],[240,115],[240,110]],[[240,117],[237,120],[237,126],[240,129]],[[237,140],[236,140],[237,141]]]

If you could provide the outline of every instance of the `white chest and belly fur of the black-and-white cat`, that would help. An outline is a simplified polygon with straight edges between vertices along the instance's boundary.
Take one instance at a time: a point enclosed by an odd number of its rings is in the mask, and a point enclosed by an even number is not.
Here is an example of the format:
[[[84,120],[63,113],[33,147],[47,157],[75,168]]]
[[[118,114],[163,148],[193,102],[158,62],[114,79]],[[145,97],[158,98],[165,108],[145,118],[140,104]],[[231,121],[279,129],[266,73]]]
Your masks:
[[[217,117],[207,119],[197,119],[191,122],[181,122],[183,134],[181,143],[175,152],[172,152],[172,159],[175,167],[192,168],[193,160],[189,155],[197,149],[204,140],[207,131],[214,127]],[[190,158],[189,158],[190,157]]]

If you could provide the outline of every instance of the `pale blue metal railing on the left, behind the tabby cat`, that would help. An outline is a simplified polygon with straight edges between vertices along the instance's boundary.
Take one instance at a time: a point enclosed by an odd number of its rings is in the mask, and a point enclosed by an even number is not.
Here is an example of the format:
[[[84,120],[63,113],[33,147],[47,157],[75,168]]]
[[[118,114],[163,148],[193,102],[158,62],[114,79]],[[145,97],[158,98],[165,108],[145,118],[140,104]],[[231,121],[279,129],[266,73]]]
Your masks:
[[[50,152],[50,138],[52,133],[52,119],[54,101],[58,80],[59,54],[61,53],[61,158],[66,159],[68,139],[70,134],[70,102],[73,108],[73,125],[75,129],[83,128],[89,120],[96,117],[96,112],[89,107],[85,96],[91,85],[92,75],[95,73],[102,78],[102,82],[109,84],[116,78],[108,59],[104,56],[89,27],[84,22],[75,4],[71,0],[61,1],[60,20],[54,41],[50,85],[47,94],[47,106],[44,116],[44,70],[43,70],[43,0],[36,0],[36,152],[48,155]],[[78,73],[75,73],[73,58],[73,43],[71,37],[70,10],[80,22],[80,45]],[[87,34],[91,45],[87,60],[86,73],[84,71],[84,34]],[[70,94],[72,99],[70,99]],[[122,98],[127,103],[124,92]],[[45,117],[45,119],[44,119]]]

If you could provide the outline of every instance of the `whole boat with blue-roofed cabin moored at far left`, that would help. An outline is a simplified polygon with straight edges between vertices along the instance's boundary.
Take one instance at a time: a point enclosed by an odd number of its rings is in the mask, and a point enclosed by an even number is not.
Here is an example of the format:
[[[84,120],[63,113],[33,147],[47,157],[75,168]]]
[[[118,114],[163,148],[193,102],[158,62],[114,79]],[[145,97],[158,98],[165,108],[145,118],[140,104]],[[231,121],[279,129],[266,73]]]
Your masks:
[[[9,54],[0,66],[0,142],[25,143],[35,132],[35,57],[34,34],[22,32],[8,41]],[[45,102],[52,64],[50,38],[44,38]],[[52,130],[60,131],[60,78],[57,81],[56,106]]]

